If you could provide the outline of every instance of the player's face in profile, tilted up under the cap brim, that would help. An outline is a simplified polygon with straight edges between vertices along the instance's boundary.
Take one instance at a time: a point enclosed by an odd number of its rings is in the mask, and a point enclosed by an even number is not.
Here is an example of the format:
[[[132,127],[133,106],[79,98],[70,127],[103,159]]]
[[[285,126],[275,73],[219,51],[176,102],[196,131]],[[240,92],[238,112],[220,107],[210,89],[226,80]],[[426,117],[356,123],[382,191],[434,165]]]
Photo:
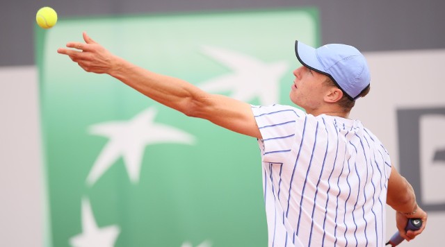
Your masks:
[[[304,66],[294,70],[293,75],[295,79],[289,94],[291,101],[307,112],[318,109],[329,90],[329,85],[325,83],[327,76]]]

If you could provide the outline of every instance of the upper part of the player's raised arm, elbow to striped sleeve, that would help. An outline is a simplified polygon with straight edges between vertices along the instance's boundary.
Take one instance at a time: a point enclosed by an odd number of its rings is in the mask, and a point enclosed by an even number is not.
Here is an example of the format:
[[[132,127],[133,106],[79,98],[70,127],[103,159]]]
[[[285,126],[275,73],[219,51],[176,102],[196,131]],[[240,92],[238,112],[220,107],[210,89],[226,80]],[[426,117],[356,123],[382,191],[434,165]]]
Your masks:
[[[251,105],[218,94],[202,94],[191,103],[191,117],[207,119],[218,126],[236,133],[261,139]]]

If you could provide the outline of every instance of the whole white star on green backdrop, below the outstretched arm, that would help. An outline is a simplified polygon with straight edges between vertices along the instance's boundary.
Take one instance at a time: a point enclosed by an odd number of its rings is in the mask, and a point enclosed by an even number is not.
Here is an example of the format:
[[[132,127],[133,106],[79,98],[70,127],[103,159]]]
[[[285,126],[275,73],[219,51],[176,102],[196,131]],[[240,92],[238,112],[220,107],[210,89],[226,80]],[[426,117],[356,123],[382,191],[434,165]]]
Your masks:
[[[171,126],[154,123],[156,110],[149,108],[129,121],[108,121],[90,126],[92,135],[102,135],[110,140],[93,164],[86,182],[93,185],[102,174],[123,157],[131,182],[139,180],[140,166],[149,144],[180,143],[193,144],[195,137]]]

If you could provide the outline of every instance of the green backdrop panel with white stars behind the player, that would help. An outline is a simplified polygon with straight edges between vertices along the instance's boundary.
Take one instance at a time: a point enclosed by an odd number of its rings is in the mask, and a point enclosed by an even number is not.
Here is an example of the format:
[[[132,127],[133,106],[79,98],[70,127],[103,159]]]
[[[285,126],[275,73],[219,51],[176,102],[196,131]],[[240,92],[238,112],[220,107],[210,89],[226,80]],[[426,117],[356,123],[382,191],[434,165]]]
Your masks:
[[[54,28],[35,28],[47,246],[266,246],[257,140],[56,53],[82,31],[140,67],[209,92],[290,104],[294,40],[319,45],[318,11],[59,17]]]

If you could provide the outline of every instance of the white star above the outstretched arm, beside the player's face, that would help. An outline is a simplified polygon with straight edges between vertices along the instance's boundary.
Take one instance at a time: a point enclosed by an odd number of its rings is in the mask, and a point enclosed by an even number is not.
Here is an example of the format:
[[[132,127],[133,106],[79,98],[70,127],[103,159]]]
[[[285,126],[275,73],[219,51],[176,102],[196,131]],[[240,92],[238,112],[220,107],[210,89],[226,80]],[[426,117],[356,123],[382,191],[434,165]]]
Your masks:
[[[232,90],[232,98],[240,101],[249,102],[257,96],[261,105],[279,103],[280,78],[289,68],[287,62],[265,63],[245,54],[209,46],[204,47],[203,51],[232,69],[233,73],[202,83],[200,85],[202,90],[207,92]]]

